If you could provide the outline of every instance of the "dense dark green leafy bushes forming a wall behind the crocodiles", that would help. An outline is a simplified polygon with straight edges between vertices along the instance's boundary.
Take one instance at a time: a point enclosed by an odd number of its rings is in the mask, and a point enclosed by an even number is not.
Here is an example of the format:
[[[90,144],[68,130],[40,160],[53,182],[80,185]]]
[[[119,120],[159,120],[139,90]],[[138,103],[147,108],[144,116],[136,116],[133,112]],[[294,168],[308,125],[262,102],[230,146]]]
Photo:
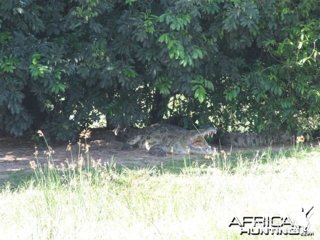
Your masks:
[[[0,129],[312,130],[320,1],[0,0]]]

